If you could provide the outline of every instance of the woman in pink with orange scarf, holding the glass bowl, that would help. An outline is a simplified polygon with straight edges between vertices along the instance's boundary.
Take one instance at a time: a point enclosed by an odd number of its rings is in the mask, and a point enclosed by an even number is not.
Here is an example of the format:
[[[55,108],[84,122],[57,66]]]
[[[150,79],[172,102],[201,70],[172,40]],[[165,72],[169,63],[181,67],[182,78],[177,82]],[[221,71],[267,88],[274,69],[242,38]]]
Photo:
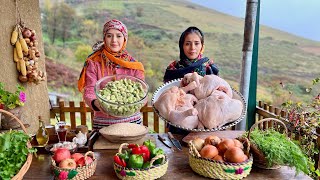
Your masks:
[[[94,92],[96,82],[107,75],[127,74],[144,80],[144,67],[127,52],[127,42],[127,27],[121,21],[113,19],[106,22],[103,42],[94,45],[95,52],[88,56],[80,74],[78,89],[86,104],[94,110],[94,129],[120,122],[141,123],[140,113],[126,118],[104,114]]]

